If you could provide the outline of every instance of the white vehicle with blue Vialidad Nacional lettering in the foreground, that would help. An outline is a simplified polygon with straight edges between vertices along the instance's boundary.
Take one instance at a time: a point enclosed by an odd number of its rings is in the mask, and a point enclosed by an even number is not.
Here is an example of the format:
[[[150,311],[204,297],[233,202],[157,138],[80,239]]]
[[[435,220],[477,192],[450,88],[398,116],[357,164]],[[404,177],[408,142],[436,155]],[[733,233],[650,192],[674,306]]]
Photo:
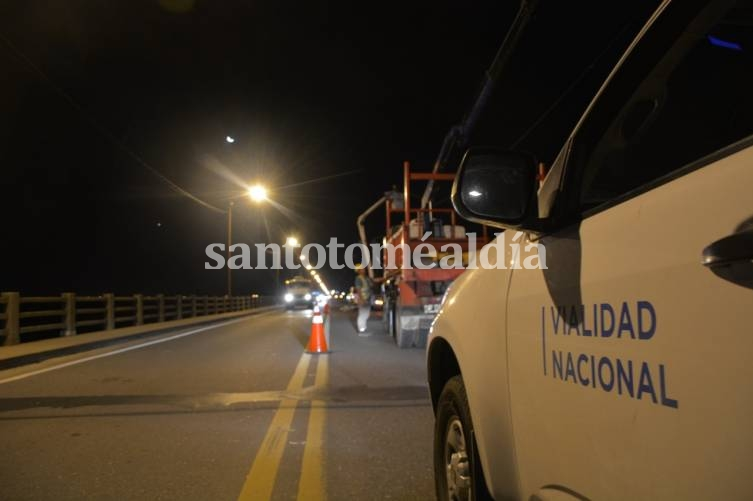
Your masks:
[[[753,499],[753,6],[660,4],[540,184],[465,153],[458,212],[547,269],[443,300],[440,500]]]

